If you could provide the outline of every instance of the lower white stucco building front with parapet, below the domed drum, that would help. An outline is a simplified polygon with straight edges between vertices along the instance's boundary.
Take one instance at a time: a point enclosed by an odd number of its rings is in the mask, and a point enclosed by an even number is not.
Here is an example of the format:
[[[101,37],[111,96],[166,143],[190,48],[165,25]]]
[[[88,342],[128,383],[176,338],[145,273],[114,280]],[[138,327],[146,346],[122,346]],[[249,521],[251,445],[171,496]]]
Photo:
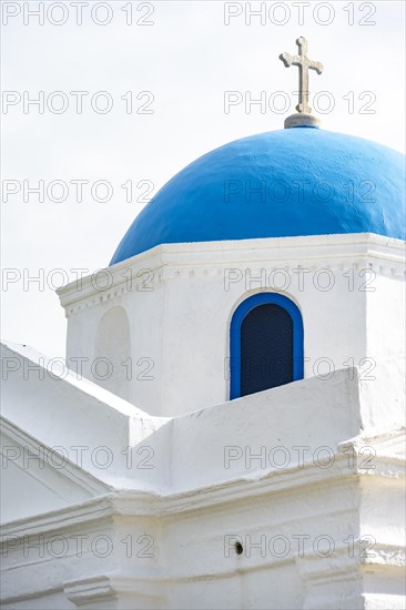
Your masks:
[[[4,357],[21,362],[3,395],[4,609],[404,607],[404,434],[362,431],[357,375],[161,419],[88,380],[24,378],[28,348]],[[114,459],[88,450],[78,467],[80,445]]]

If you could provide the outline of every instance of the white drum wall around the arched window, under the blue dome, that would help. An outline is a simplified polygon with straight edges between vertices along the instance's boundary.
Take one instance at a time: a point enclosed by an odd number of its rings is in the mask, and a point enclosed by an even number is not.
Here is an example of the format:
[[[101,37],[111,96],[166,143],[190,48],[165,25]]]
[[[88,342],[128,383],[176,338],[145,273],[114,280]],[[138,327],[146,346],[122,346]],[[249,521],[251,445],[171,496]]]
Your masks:
[[[119,304],[130,322],[126,396],[133,404],[172,416],[222,403],[230,397],[233,312],[252,294],[271,291],[302,313],[305,377],[358,366],[365,392],[368,377],[376,377],[386,400],[385,363],[399,353],[404,327],[402,247],[397,240],[371,234],[156,246],[110,267],[106,291],[94,289],[93,278],[80,291],[74,285],[60,291],[69,319],[68,362],[80,354],[94,363],[97,326]],[[388,312],[384,322],[383,311]],[[85,374],[100,382],[89,366]],[[395,417],[396,366],[390,379]],[[377,400],[371,425],[386,417]]]

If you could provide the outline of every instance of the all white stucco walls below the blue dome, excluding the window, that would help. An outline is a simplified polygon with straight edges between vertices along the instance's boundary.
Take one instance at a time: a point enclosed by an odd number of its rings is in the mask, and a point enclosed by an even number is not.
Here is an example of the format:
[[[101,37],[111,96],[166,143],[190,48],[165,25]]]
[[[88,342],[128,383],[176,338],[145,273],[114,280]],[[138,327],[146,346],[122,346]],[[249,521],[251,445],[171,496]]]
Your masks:
[[[71,370],[3,347],[2,607],[403,610],[400,247],[164,245],[60,291]],[[305,379],[230,403],[233,312],[270,289]]]

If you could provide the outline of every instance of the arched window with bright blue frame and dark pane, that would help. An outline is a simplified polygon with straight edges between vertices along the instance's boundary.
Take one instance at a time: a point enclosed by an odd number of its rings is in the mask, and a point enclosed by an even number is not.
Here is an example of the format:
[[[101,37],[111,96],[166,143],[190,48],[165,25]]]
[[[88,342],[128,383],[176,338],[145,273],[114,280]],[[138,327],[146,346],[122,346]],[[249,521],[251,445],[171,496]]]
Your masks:
[[[303,379],[303,322],[281,294],[250,296],[230,331],[230,399]]]

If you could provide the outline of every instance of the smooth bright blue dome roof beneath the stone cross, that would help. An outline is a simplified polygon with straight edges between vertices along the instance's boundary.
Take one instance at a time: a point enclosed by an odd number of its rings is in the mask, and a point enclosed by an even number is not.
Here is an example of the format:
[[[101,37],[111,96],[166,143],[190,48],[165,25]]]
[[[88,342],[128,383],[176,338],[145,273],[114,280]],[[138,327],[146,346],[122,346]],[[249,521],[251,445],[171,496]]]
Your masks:
[[[176,174],[111,264],[158,244],[377,233],[405,238],[404,156],[315,128],[236,140]]]

